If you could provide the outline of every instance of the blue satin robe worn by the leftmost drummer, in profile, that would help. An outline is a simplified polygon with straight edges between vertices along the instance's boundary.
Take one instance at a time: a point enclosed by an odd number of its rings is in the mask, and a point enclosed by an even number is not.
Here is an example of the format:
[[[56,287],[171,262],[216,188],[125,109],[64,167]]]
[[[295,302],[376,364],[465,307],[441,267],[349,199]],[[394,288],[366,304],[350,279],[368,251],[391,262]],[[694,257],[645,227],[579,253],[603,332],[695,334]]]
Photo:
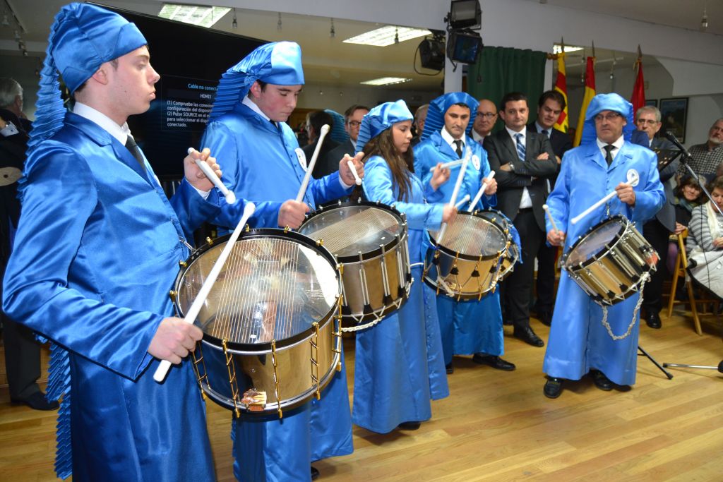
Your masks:
[[[218,196],[204,201],[183,181],[169,202],[145,167],[100,126],[67,113],[21,181],[4,310],[69,352],[69,372],[51,366],[49,387],[70,377],[59,431],[69,415],[74,481],[214,477],[191,361],[158,384],[147,348],[174,314],[168,291],[189,255],[181,240],[218,211]],[[68,449],[59,447],[61,477]]]

